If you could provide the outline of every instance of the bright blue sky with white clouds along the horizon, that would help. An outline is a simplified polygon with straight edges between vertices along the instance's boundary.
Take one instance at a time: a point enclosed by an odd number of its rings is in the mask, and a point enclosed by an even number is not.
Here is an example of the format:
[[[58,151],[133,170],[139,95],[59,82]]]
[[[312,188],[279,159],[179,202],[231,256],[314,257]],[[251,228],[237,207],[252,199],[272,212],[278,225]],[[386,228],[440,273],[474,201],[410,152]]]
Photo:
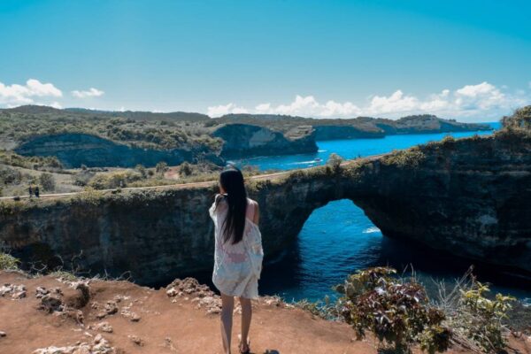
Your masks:
[[[528,1],[0,1],[0,106],[486,121],[531,104]]]

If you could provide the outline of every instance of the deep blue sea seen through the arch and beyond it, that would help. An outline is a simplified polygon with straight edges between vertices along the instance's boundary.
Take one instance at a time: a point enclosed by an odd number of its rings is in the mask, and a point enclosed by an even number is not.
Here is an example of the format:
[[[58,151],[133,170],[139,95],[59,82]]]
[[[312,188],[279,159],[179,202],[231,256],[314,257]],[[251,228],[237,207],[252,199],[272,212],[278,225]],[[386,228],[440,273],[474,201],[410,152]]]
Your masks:
[[[500,127],[499,123],[488,124],[495,130]],[[325,164],[332,153],[345,159],[358,158],[439,141],[446,135],[462,138],[489,134],[492,131],[319,141],[319,150],[312,154],[232,162],[239,166],[252,165],[262,171],[292,170]],[[432,296],[436,296],[440,284],[451,288],[470,266],[474,266],[475,275],[480,281],[488,282],[493,292],[511,294],[525,304],[531,304],[530,278],[388,238],[347,199],[331,202],[312,212],[296,241],[278,258],[266,263],[259,290],[263,295],[278,295],[286,301],[334,298],[337,296],[333,289],[335,285],[350,273],[371,266],[393,266],[406,275],[413,272]]]

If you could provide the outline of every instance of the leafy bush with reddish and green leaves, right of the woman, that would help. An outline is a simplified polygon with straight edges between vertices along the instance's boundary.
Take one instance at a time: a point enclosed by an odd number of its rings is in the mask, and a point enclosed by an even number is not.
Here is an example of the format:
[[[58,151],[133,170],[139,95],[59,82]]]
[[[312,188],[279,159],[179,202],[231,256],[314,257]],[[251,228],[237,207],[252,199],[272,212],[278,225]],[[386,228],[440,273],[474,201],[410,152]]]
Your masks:
[[[395,273],[389,267],[369,268],[337,286],[345,321],[358,340],[368,330],[399,353],[410,353],[415,343],[429,353],[447,350],[450,329],[443,327],[444,313],[429,303],[422,285],[402,281]]]

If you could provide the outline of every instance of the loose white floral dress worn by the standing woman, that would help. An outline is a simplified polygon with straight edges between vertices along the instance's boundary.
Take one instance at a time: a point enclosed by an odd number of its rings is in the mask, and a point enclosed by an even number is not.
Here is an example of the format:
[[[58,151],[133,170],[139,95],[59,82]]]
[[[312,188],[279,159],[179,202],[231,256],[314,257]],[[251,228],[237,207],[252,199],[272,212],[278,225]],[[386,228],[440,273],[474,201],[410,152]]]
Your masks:
[[[227,218],[227,202],[214,202],[209,210],[215,227],[214,271],[212,282],[228,296],[258,297],[258,279],[262,271],[262,235],[254,219],[257,202],[247,199],[245,229],[241,242],[223,242],[223,222]]]

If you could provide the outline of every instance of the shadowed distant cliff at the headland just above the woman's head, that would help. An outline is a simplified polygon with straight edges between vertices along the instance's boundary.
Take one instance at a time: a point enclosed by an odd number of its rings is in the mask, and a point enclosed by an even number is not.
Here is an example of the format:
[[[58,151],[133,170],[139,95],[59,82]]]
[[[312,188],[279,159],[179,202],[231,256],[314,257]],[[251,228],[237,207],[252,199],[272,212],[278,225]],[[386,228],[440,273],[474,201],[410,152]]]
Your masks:
[[[291,140],[266,127],[247,124],[228,124],[216,129],[212,135],[223,139],[221,156],[224,158],[293,155],[318,150],[312,134]]]

